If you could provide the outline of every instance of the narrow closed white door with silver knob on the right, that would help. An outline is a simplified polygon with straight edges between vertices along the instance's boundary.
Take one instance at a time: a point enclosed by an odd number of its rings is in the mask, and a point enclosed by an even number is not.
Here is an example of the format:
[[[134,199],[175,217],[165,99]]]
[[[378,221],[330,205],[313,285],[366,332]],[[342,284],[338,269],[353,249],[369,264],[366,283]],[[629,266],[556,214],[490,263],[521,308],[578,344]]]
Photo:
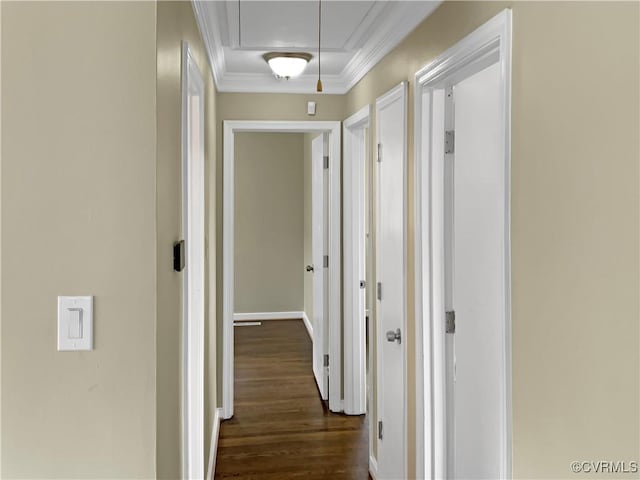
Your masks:
[[[406,82],[376,101],[378,478],[404,479]]]

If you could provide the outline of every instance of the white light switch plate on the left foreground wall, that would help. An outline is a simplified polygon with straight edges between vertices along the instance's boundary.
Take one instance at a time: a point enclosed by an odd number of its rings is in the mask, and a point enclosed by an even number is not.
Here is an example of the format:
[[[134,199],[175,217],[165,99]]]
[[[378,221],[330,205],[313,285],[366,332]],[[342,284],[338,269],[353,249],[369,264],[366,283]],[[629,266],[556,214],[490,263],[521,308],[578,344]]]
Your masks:
[[[93,297],[58,297],[58,351],[93,350]]]

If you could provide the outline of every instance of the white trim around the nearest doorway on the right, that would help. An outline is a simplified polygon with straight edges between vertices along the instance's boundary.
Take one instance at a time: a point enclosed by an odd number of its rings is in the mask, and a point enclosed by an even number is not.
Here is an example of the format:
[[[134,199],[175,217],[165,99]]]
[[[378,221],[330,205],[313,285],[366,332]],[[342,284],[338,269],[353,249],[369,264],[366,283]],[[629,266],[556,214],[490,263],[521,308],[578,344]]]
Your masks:
[[[442,215],[432,196],[435,194],[430,153],[423,151],[423,95],[432,96],[435,89],[453,85],[472,73],[499,62],[503,81],[504,152],[505,152],[505,325],[504,325],[504,425],[503,425],[503,478],[511,477],[511,259],[510,259],[510,161],[511,161],[511,10],[506,9],[476,29],[456,45],[439,55],[415,75],[414,90],[414,156],[415,156],[415,315],[416,315],[416,473],[418,478],[434,478],[436,463],[445,461],[442,441],[434,436],[439,428],[434,423],[434,375],[440,358],[425,355],[431,345],[433,329],[440,329],[433,310],[434,289],[440,279],[434,277],[433,239],[442,225]],[[427,135],[432,136],[431,125]],[[423,235],[423,231],[425,235]],[[438,315],[441,316],[441,315]],[[432,319],[427,325],[425,317]],[[437,323],[437,322],[436,322]],[[426,373],[430,381],[426,381]],[[421,408],[422,407],[422,408]],[[426,432],[431,432],[426,435]],[[426,453],[426,454],[425,454]]]

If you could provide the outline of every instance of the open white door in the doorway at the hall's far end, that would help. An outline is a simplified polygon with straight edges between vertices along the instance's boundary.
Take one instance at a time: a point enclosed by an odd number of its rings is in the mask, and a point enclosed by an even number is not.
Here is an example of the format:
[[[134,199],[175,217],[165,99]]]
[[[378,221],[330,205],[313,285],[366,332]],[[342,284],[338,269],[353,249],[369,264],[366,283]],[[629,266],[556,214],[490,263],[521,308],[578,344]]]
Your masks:
[[[328,179],[324,168],[326,149],[325,135],[319,135],[311,143],[311,256],[313,258],[313,375],[320,396],[329,398],[329,375],[325,358],[329,352],[329,325],[327,319],[327,216],[326,189]],[[328,259],[328,257],[326,257]]]

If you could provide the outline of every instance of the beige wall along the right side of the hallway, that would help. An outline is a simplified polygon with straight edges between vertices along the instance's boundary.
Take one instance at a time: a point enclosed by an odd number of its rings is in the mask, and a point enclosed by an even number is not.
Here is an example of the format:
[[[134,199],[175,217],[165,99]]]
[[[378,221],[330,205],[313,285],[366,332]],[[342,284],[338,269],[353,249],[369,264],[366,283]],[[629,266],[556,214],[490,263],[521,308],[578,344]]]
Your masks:
[[[354,87],[345,116],[402,80],[412,86],[420,67],[505,6],[443,4]],[[516,478],[567,478],[572,460],[631,460],[640,451],[638,20],[637,3],[513,4]],[[409,106],[411,338],[411,94]],[[410,382],[411,475],[414,390]]]

